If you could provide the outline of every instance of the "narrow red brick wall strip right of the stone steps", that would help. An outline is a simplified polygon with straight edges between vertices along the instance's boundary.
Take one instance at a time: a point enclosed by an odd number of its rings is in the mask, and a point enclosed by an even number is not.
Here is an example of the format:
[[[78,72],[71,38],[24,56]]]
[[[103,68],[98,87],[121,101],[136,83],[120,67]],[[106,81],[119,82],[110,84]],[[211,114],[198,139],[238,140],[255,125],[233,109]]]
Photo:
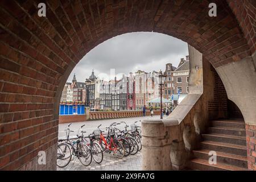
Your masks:
[[[256,125],[245,125],[248,168],[256,170]]]

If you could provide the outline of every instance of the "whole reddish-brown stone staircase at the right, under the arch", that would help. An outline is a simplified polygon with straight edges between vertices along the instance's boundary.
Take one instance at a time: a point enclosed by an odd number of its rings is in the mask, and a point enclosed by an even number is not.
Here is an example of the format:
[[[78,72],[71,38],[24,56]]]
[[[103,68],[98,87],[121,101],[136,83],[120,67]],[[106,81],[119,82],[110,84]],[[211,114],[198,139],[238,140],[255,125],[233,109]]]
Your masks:
[[[247,170],[245,122],[242,119],[210,121],[210,127],[203,134],[200,150],[194,150],[189,169],[216,171]],[[209,164],[209,151],[216,151],[217,164]]]

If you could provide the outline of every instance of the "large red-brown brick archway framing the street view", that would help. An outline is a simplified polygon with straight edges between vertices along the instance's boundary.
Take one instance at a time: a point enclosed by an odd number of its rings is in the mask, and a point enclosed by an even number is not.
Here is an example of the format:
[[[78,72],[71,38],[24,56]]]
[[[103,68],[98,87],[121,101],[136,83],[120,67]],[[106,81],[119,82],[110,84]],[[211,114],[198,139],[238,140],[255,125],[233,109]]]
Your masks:
[[[250,0],[214,1],[217,17],[208,16],[207,0],[47,1],[46,18],[37,14],[40,2],[0,2],[0,169],[56,168],[64,83],[90,49],[113,36],[174,36],[202,52],[220,75],[225,65],[255,55]],[[47,153],[47,165],[37,163],[40,150]]]

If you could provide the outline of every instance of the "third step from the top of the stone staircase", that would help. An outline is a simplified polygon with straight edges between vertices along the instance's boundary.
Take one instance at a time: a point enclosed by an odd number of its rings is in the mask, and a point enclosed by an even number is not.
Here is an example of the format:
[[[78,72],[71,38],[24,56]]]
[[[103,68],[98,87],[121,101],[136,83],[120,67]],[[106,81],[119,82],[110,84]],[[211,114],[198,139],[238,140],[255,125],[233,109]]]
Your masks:
[[[202,134],[202,137],[204,140],[246,146],[245,137],[237,137],[234,135],[214,134],[214,133]]]

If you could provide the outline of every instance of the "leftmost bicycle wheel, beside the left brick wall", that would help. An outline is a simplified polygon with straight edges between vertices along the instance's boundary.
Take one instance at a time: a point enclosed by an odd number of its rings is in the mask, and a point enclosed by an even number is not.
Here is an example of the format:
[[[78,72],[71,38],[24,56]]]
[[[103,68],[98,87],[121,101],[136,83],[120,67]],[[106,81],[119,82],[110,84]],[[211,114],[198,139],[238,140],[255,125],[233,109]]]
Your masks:
[[[60,143],[57,146],[57,166],[65,167],[68,166],[71,161],[71,148],[67,143]]]

